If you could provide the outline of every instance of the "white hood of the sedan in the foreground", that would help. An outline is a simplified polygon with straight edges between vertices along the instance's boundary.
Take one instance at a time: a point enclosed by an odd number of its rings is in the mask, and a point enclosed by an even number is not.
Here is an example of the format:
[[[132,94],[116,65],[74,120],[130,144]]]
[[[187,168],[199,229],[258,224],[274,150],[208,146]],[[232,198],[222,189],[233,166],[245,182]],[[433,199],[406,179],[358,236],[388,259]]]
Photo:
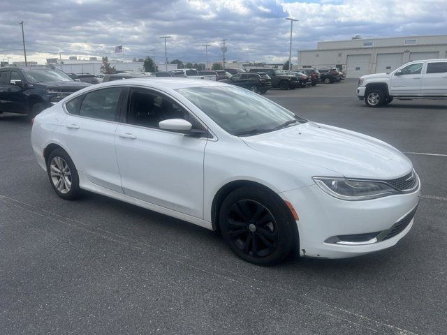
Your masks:
[[[265,154],[318,165],[349,178],[395,179],[413,168],[409,158],[390,144],[311,121],[241,139]]]

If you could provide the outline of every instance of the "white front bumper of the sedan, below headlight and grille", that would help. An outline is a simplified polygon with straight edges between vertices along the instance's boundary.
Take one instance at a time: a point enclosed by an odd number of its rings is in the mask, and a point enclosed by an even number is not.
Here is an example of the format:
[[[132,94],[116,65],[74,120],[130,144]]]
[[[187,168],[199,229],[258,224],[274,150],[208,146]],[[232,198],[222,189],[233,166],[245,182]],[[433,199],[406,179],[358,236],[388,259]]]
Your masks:
[[[349,258],[380,251],[394,246],[413,225],[413,216],[397,234],[384,237],[402,218],[416,209],[420,199],[420,186],[413,193],[388,197],[345,201],[328,195],[316,185],[279,193],[291,202],[298,214],[300,255],[313,258]],[[334,237],[378,232],[376,240],[363,243],[337,243]],[[369,243],[367,243],[369,242]]]

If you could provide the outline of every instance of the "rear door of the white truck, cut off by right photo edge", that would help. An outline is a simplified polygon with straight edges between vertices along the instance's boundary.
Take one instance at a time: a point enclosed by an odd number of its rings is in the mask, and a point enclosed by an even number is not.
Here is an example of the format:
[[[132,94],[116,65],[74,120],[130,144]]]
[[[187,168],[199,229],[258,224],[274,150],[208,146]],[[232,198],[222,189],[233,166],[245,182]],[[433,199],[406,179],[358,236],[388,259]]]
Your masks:
[[[426,96],[447,96],[447,61],[427,62],[420,91]]]

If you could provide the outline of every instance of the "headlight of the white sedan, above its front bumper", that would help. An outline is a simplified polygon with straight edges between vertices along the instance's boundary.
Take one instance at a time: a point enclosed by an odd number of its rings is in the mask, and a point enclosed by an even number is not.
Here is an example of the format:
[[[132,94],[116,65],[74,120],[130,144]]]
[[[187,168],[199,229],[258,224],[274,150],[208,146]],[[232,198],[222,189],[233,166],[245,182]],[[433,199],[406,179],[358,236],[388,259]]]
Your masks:
[[[381,181],[331,177],[314,177],[313,179],[325,193],[342,200],[370,200],[399,193],[395,188]]]

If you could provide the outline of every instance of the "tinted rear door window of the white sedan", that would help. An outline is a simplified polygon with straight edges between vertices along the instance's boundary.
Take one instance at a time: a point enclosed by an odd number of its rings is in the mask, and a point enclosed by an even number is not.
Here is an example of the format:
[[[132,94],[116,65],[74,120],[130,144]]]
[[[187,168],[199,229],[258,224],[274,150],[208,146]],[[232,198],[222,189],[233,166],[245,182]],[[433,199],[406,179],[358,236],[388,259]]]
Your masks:
[[[122,91],[122,87],[110,87],[85,94],[80,105],[79,115],[92,119],[118,121],[119,96]]]

